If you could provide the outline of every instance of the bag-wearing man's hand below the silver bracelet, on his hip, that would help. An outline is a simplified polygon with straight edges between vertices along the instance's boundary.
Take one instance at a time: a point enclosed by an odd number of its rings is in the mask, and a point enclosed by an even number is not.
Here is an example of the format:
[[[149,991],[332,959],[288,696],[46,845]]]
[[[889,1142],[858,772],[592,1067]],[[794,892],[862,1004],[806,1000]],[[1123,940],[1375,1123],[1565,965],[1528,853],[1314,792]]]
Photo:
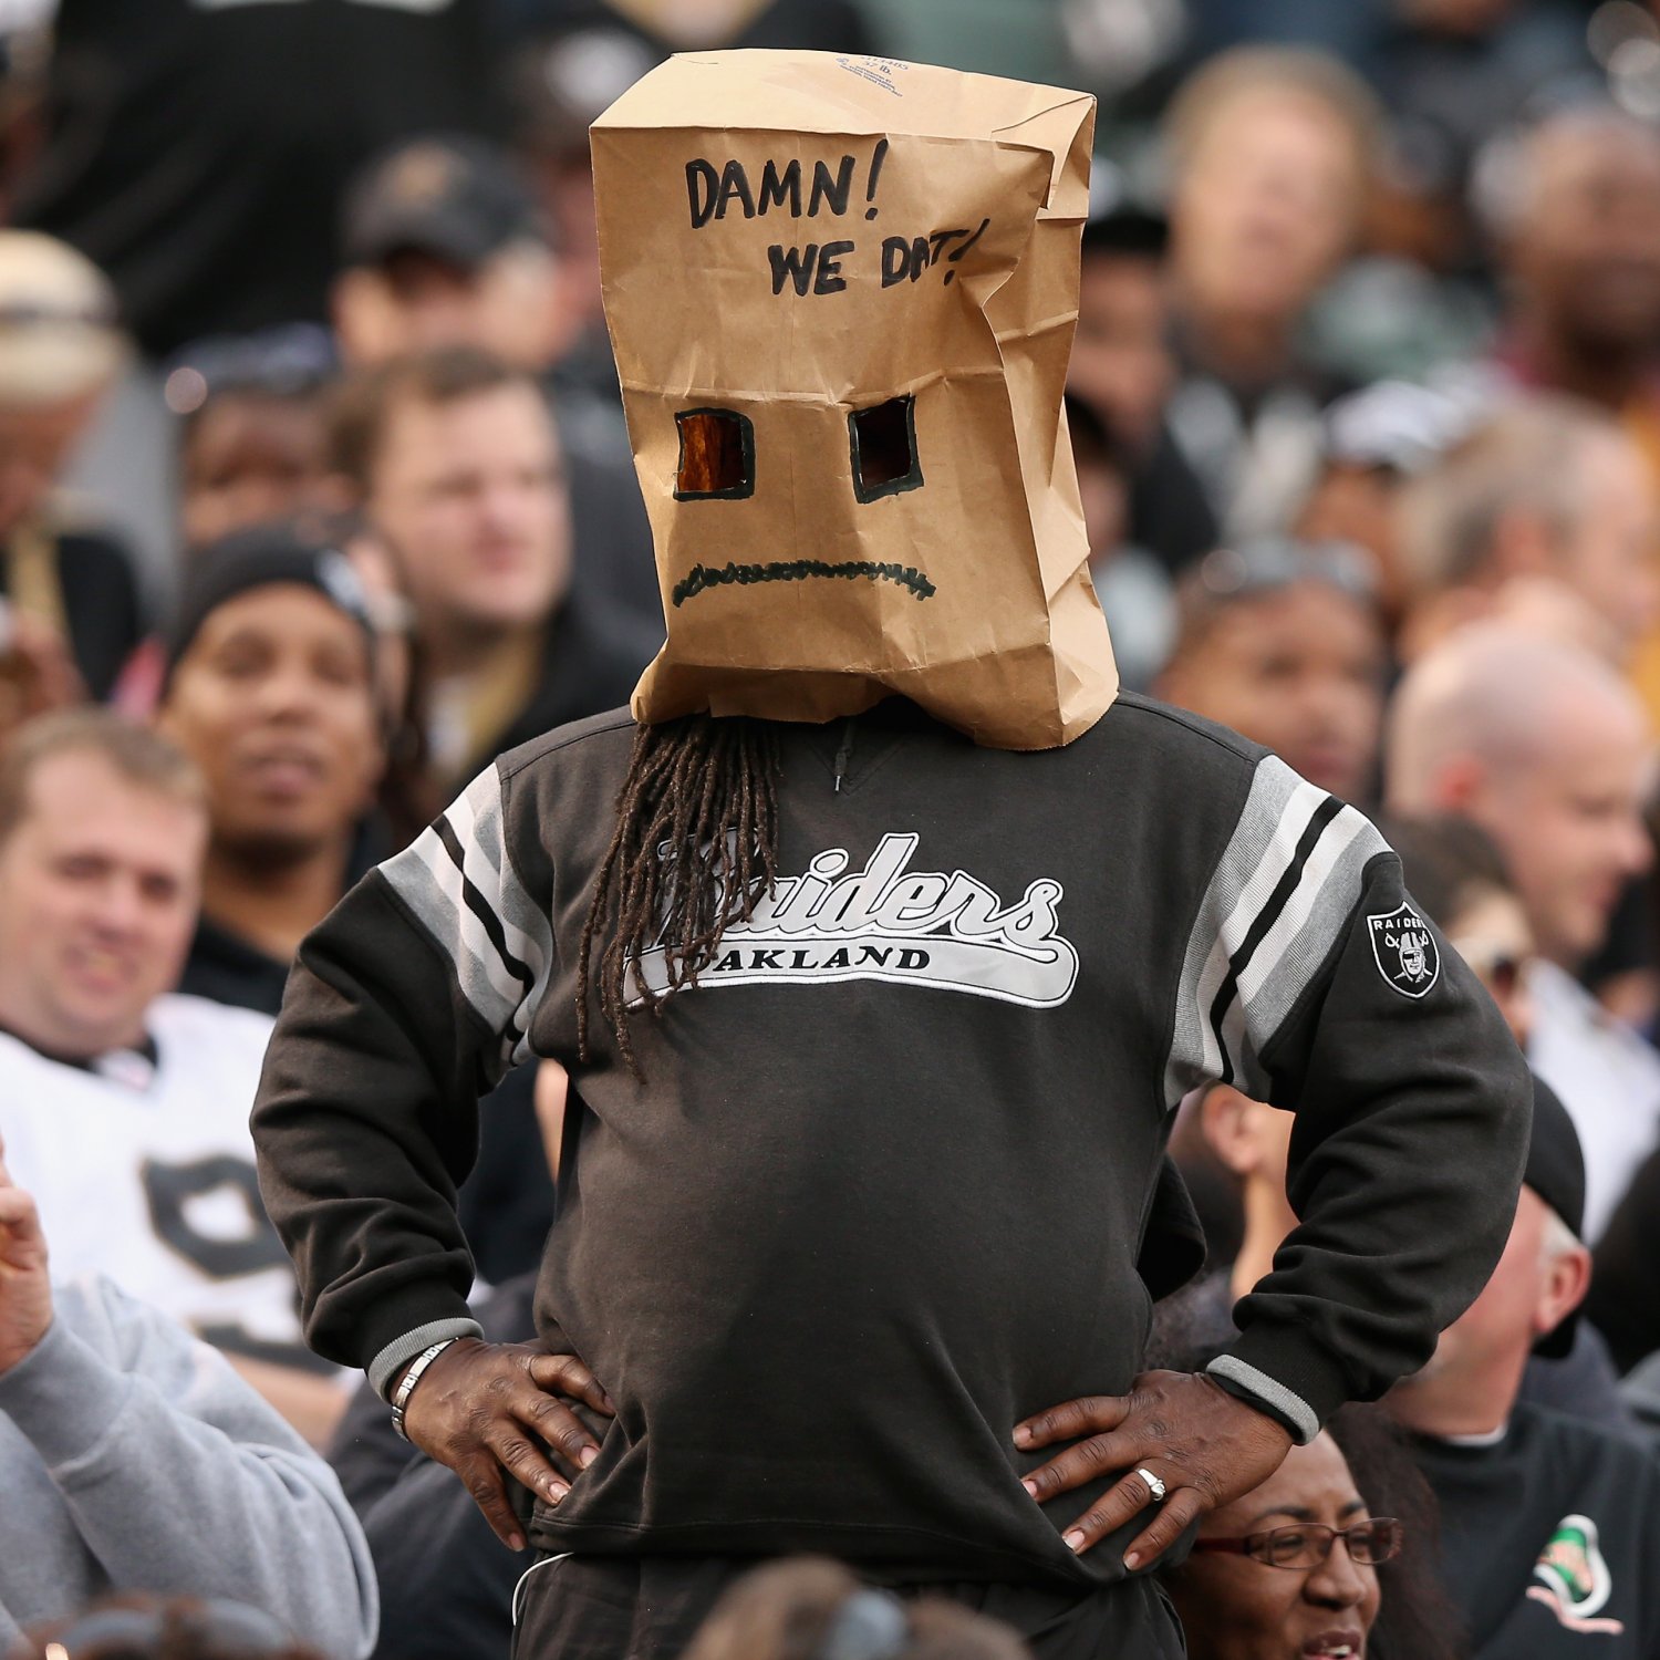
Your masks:
[[[574,1355],[461,1338],[427,1368],[403,1413],[410,1441],[461,1477],[511,1550],[525,1549],[525,1536],[503,1471],[558,1504],[571,1491],[561,1467],[574,1479],[599,1456],[599,1443],[559,1396],[616,1414],[611,1396]]]

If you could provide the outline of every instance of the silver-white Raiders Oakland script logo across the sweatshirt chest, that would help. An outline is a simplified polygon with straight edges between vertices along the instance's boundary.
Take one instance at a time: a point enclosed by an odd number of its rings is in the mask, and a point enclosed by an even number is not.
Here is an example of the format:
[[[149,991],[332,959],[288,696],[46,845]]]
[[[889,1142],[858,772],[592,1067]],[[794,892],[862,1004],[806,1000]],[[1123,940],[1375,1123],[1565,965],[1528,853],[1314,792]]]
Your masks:
[[[1059,933],[1059,881],[1034,881],[1016,905],[956,870],[910,870],[921,837],[885,835],[863,870],[848,853],[815,855],[780,876],[745,923],[720,936],[701,986],[815,984],[886,979],[938,986],[1051,1009],[1072,994],[1077,951]],[[662,991],[662,950],[632,964],[636,983]]]

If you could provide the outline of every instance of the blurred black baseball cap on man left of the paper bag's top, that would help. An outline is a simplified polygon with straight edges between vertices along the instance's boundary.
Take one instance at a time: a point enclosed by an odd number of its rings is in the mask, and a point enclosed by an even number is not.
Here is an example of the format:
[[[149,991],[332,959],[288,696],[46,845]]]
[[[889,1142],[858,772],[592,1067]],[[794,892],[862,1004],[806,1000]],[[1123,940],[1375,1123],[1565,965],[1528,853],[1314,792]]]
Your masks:
[[[476,271],[523,241],[551,246],[548,224],[511,158],[478,138],[408,139],[372,161],[345,193],[347,266],[415,252]]]

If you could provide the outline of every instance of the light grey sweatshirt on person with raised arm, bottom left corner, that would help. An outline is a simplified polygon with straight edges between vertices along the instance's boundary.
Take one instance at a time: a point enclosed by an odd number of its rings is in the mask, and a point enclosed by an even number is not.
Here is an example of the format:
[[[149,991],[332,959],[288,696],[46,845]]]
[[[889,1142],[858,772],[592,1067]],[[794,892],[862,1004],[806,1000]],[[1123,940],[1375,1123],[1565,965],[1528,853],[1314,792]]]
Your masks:
[[[0,1373],[0,1653],[113,1590],[231,1597],[329,1660],[378,1600],[334,1471],[231,1370],[108,1280],[53,1286]]]

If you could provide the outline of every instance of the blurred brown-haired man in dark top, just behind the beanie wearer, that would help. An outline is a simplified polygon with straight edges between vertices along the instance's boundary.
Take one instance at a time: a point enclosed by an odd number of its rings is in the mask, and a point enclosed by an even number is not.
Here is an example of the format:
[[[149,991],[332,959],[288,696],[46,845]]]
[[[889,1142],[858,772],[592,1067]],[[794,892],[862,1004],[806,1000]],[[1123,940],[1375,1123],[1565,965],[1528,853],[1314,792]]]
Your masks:
[[[654,641],[571,571],[558,432],[536,382],[456,347],[349,383],[334,461],[413,608],[435,817],[496,755],[627,701]]]

